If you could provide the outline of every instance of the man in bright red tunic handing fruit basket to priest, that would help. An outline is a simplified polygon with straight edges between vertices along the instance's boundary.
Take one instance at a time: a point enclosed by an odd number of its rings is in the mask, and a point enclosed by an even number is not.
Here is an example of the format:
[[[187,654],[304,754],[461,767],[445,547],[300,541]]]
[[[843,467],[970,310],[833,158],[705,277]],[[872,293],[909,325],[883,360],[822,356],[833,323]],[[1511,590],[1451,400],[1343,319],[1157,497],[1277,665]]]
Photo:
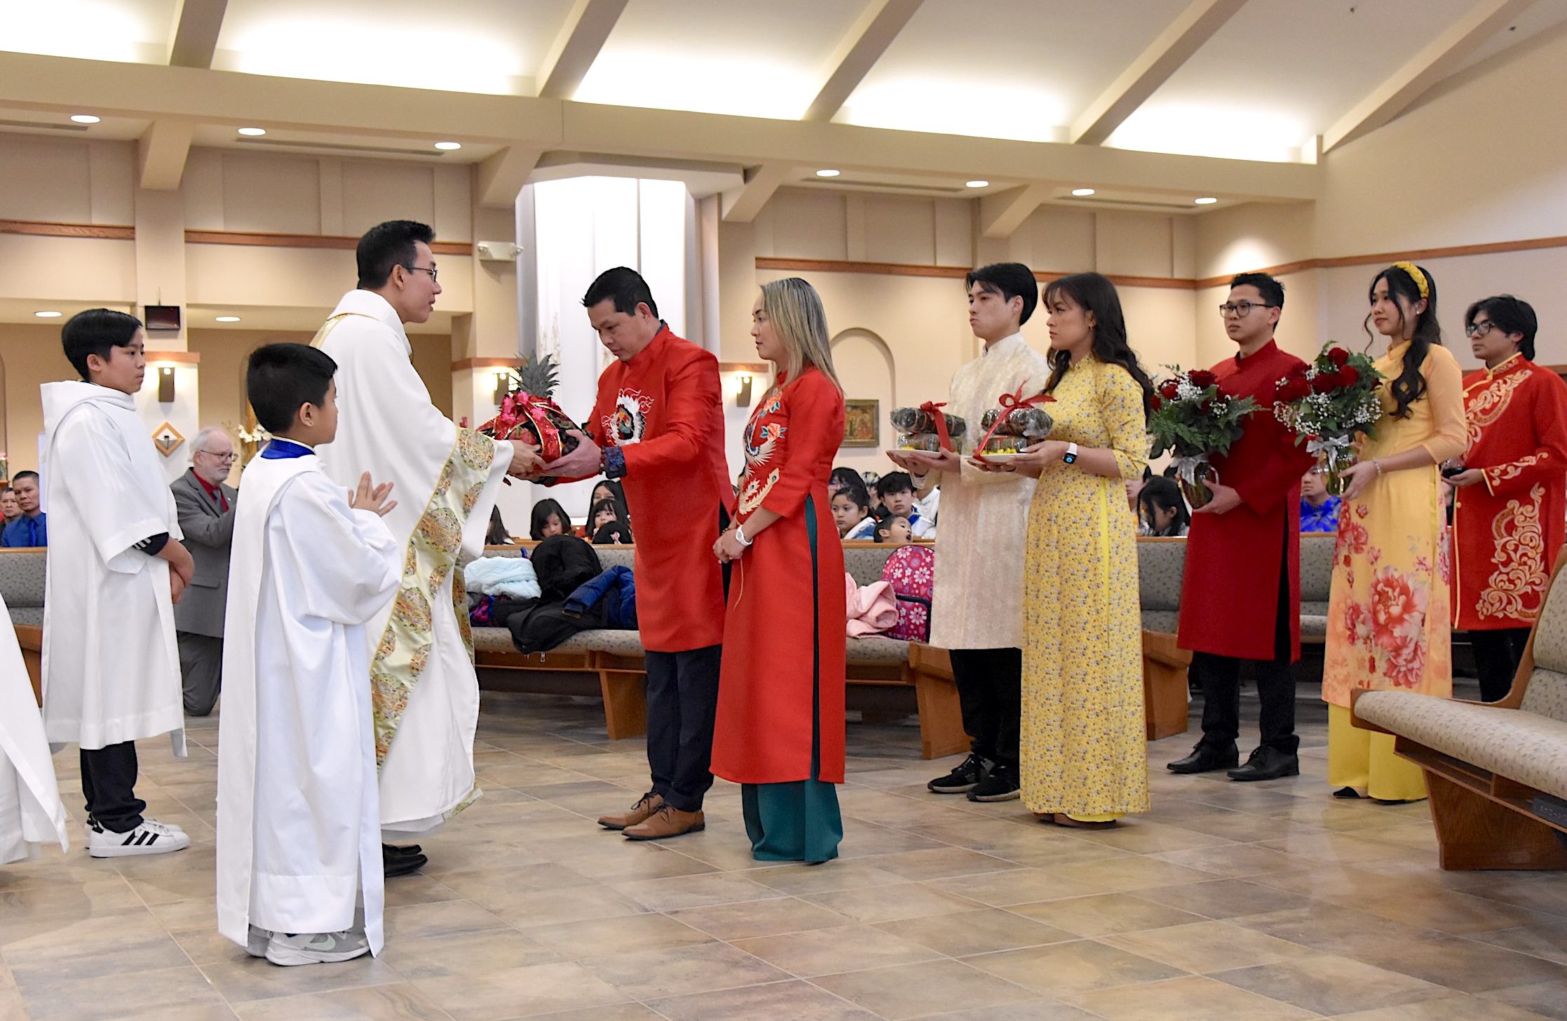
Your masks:
[[[625,267],[600,273],[583,306],[619,361],[599,376],[588,420],[592,441],[542,474],[619,478],[636,519],[652,789],[628,812],[599,823],[635,841],[657,841],[700,830],[702,795],[713,786],[724,572],[711,550],[735,508],[724,401],[718,359],[658,318],[639,273]]]

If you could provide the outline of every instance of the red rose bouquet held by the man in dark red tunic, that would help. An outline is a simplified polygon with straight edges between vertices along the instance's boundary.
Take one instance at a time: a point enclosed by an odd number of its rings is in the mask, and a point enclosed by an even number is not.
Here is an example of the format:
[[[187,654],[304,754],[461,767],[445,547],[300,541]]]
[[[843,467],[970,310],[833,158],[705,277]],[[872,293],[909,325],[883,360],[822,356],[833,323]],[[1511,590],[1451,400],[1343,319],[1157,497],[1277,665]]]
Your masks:
[[[1186,502],[1194,508],[1213,499],[1210,483],[1219,481],[1219,471],[1208,461],[1214,453],[1229,453],[1241,438],[1246,416],[1257,409],[1250,397],[1219,392],[1219,380],[1205,369],[1182,372],[1166,365],[1172,375],[1160,383],[1149,412],[1153,436],[1150,456],[1166,450],[1175,455],[1175,480]]]

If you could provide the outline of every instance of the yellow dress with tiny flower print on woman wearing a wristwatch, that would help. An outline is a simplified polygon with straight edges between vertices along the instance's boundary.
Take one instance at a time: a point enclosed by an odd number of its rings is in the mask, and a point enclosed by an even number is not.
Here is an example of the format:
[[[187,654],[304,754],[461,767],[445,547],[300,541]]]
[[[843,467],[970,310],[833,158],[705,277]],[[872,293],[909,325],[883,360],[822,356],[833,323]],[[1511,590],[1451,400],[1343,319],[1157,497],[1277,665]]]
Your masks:
[[[1061,378],[1051,439],[1109,449],[1119,478],[1045,469],[1028,510],[1023,590],[1023,803],[1105,822],[1149,809],[1138,521],[1125,478],[1147,464],[1142,387],[1083,358]]]

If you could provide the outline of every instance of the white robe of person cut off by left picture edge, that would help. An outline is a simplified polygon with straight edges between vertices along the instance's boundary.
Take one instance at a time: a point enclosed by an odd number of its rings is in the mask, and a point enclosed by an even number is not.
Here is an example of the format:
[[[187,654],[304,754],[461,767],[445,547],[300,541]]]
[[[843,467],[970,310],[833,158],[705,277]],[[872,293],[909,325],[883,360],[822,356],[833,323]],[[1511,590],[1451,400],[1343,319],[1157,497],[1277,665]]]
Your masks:
[[[0,599],[0,621],[8,620]],[[39,844],[53,841],[60,850],[71,847],[44,718],[16,629],[0,627],[0,866],[33,858]]]

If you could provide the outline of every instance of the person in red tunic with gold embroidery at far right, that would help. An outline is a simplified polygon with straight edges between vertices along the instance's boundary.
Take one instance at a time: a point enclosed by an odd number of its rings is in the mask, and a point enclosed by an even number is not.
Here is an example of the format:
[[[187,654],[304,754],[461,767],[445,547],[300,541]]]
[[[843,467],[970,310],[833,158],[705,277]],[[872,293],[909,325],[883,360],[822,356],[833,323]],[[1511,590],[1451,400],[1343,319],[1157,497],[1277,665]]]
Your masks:
[[[1534,309],[1511,295],[1464,314],[1465,469],[1451,478],[1453,627],[1470,632],[1479,696],[1507,695],[1567,532],[1567,384],[1534,364]]]

